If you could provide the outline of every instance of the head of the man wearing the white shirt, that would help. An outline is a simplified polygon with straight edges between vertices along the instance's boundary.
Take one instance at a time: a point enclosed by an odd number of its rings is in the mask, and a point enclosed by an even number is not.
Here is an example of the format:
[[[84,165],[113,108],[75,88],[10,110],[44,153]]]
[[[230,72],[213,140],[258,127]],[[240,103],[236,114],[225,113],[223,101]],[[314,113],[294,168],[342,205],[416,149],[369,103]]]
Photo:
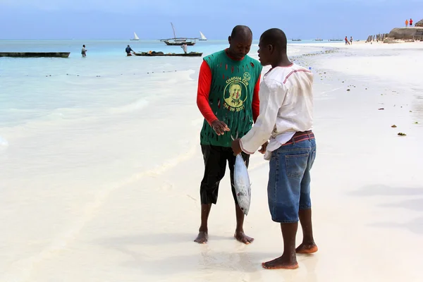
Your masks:
[[[263,66],[271,65],[286,56],[287,45],[285,32],[271,28],[263,32],[259,41],[259,61]]]

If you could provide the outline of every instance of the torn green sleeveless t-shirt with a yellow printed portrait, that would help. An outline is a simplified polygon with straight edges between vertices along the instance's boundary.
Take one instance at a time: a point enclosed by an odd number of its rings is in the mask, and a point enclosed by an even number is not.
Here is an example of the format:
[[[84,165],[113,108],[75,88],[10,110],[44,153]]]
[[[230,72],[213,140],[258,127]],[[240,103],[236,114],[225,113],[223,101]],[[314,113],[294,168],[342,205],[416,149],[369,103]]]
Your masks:
[[[252,128],[252,96],[263,67],[250,56],[233,60],[225,50],[204,57],[204,61],[212,71],[209,104],[231,131],[219,136],[204,119],[200,144],[231,147],[231,135],[235,138],[238,133],[240,138]]]

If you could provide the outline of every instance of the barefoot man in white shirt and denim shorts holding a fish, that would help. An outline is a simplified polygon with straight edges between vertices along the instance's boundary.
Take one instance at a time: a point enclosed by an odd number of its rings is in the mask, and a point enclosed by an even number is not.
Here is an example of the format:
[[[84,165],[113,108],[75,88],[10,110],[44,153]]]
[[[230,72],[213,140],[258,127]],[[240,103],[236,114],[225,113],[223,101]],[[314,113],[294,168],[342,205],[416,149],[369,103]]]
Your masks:
[[[266,30],[260,37],[259,61],[271,70],[260,84],[260,112],[252,129],[233,140],[233,152],[260,152],[270,161],[267,195],[273,221],[281,223],[283,255],[262,263],[265,269],[296,269],[295,252],[317,252],[312,233],[310,169],[316,158],[312,133],[313,75],[291,63],[286,54],[286,35],[278,28]],[[302,226],[302,244],[295,249],[298,219]]]

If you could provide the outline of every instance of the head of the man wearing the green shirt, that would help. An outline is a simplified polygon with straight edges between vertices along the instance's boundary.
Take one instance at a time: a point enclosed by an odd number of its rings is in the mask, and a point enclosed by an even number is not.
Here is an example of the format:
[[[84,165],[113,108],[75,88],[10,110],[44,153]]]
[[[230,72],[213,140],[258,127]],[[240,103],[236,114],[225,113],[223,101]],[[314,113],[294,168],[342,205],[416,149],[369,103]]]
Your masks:
[[[252,43],[252,31],[245,25],[233,27],[231,36],[228,37],[229,53],[234,59],[242,59],[248,54]]]

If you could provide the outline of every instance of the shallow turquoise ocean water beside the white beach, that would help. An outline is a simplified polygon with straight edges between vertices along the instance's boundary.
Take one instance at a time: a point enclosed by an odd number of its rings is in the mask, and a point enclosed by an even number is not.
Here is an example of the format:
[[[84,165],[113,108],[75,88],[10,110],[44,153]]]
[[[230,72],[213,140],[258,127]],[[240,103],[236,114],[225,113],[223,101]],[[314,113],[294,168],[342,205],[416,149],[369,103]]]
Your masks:
[[[257,54],[254,43],[251,56]],[[80,55],[82,44],[88,50],[85,58]],[[0,51],[70,51],[71,55],[67,59],[0,58],[0,144],[6,142],[1,135],[3,127],[45,118],[83,118],[107,108],[139,109],[149,93],[136,91],[137,85],[148,83],[149,75],[162,73],[166,79],[168,73],[197,71],[202,61],[201,57],[127,57],[128,44],[137,52],[182,51],[157,41],[1,40]],[[206,56],[226,47],[224,40],[197,42],[188,51]],[[314,50],[294,43],[289,53],[294,56]]]

